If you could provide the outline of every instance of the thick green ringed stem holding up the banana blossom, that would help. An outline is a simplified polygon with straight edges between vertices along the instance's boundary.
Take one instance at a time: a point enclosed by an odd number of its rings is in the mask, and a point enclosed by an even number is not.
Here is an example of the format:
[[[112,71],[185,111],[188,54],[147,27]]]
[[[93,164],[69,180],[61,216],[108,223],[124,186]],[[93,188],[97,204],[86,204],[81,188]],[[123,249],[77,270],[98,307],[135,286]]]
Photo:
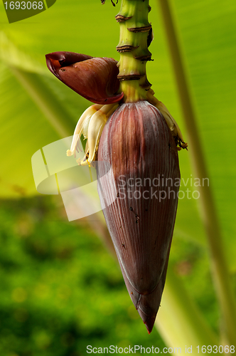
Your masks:
[[[120,26],[118,78],[125,103],[146,100],[146,92],[151,88],[146,79],[146,61],[151,61],[148,49],[152,33],[148,21],[150,10],[149,0],[122,0],[116,16]]]

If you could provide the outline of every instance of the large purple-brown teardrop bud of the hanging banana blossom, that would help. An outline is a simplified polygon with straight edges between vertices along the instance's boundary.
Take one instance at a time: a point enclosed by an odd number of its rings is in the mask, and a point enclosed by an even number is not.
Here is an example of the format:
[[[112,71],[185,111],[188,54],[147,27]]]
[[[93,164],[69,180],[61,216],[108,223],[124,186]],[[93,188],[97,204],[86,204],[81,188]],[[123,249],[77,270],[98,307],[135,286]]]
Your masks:
[[[103,213],[127,290],[151,333],[176,219],[176,143],[157,108],[146,101],[126,103],[104,126],[98,161],[112,166],[107,174],[104,165],[97,166]]]

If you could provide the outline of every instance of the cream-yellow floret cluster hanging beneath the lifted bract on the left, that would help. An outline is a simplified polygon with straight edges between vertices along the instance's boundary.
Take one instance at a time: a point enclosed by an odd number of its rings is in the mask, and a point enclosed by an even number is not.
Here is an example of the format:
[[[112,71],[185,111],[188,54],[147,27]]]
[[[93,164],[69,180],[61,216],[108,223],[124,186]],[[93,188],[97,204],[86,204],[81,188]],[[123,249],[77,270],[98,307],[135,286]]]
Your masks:
[[[77,159],[77,163],[82,166],[90,164],[96,157],[103,127],[109,116],[112,115],[114,110],[117,108],[118,104],[95,104],[90,106],[90,108],[87,108],[87,110],[85,110],[85,112],[81,115],[80,120],[77,122],[73,142],[70,150],[66,152],[67,155],[76,155],[76,151],[78,151],[78,149],[81,150],[80,136],[83,135],[85,139],[87,138],[85,157],[83,157],[83,159]]]

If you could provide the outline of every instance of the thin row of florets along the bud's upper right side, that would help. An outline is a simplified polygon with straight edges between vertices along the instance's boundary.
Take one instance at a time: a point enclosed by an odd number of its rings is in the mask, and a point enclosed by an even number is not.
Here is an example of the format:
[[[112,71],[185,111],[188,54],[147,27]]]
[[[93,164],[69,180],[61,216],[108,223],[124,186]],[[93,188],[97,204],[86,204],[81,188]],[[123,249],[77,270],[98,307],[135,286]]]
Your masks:
[[[149,89],[147,91],[147,100],[149,100],[149,103],[152,105],[156,106],[163,115],[164,119],[166,120],[166,123],[168,125],[168,128],[171,130],[171,133],[173,135],[173,138],[176,141],[176,145],[178,145],[181,148],[187,148],[188,144],[183,141],[183,135],[181,133],[181,129],[178,127],[178,124],[176,120],[171,116],[170,112],[166,108],[166,106],[161,103],[158,99],[154,97],[154,90]]]

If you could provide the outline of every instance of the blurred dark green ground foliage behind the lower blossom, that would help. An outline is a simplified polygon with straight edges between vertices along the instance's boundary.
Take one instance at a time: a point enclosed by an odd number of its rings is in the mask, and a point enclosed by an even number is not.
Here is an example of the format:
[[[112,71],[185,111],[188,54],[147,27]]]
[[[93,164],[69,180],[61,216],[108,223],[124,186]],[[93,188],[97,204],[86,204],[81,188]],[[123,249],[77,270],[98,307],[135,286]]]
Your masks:
[[[0,355],[79,356],[87,345],[164,347],[136,312],[117,261],[60,197],[1,201]],[[205,249],[174,239],[171,263],[218,330]]]

